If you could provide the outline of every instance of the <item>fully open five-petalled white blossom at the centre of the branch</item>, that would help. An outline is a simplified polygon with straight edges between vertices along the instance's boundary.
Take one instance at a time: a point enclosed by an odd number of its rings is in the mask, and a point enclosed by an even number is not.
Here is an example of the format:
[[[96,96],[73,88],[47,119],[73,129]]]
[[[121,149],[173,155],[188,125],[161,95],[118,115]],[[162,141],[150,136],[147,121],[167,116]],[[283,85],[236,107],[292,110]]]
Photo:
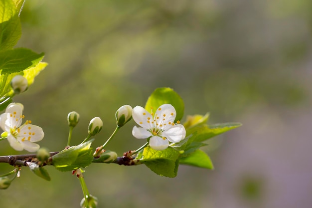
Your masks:
[[[141,127],[133,127],[132,135],[137,139],[150,138],[150,147],[164,150],[169,142],[180,142],[185,138],[185,128],[175,124],[176,111],[170,104],[163,104],[157,108],[155,114],[149,113],[141,106],[133,109],[132,117]]]

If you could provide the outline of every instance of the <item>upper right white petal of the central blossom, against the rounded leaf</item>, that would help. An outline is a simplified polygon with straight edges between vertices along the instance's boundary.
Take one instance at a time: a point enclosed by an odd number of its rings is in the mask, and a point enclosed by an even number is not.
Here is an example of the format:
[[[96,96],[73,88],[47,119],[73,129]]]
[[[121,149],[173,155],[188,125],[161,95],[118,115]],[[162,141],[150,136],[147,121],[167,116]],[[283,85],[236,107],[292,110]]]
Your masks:
[[[158,128],[164,130],[170,127],[170,123],[174,122],[176,111],[170,104],[159,106],[155,112],[156,124]],[[161,124],[161,126],[159,126]],[[163,125],[165,124],[165,125]]]

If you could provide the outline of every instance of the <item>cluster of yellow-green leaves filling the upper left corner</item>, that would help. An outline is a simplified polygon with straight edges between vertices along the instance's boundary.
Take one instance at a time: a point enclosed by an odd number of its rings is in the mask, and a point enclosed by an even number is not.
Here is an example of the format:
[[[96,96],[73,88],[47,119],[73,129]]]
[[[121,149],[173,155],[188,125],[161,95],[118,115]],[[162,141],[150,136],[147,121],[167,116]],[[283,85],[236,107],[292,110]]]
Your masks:
[[[37,54],[26,48],[13,49],[21,36],[18,13],[22,4],[23,0],[0,1],[0,110],[14,96],[10,81],[15,75],[23,75],[30,85],[47,65],[41,62],[43,53]]]

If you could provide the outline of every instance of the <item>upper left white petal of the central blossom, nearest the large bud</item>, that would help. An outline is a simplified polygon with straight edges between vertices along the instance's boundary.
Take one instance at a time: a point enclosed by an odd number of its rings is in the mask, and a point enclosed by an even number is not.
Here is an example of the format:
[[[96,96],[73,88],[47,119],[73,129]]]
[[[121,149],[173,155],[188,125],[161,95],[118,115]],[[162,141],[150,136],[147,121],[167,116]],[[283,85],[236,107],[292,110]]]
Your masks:
[[[133,120],[135,120],[137,124],[139,124],[141,127],[145,129],[153,128],[152,125],[153,116],[141,106],[134,107],[132,111],[132,118]]]

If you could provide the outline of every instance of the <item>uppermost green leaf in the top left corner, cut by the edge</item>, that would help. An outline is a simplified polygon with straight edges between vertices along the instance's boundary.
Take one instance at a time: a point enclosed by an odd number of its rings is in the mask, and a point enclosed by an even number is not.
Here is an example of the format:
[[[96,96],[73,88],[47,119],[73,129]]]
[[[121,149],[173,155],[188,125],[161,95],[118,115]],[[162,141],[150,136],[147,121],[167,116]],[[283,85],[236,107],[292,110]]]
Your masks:
[[[6,50],[19,40],[21,25],[12,0],[0,0],[0,11],[0,50]]]

